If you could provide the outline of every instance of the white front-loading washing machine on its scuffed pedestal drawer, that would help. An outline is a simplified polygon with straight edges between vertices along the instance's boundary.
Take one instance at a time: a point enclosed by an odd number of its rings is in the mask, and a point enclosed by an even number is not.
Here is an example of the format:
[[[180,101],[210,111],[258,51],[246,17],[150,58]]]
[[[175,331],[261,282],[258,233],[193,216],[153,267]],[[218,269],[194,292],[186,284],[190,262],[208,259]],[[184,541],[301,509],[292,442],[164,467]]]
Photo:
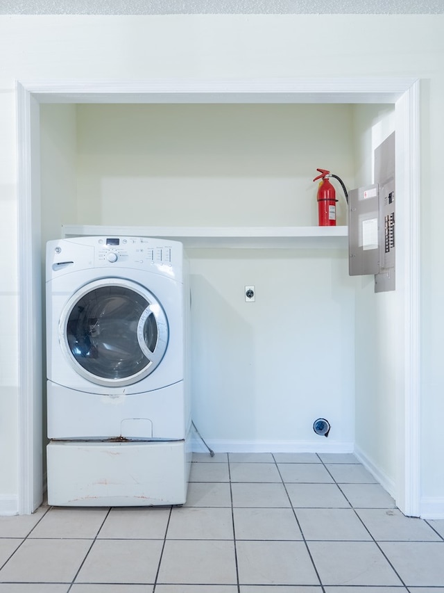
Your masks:
[[[189,306],[178,241],[49,241],[50,505],[185,503]]]

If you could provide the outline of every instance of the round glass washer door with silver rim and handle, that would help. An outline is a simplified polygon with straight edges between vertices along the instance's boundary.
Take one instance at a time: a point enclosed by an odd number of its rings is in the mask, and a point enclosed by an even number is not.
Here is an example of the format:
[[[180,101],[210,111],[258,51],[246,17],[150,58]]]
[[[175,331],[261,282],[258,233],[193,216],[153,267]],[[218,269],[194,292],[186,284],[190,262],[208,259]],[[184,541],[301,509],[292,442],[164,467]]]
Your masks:
[[[69,299],[59,342],[74,370],[87,380],[124,387],[142,380],[167,350],[168,322],[143,286],[121,279],[90,282]]]

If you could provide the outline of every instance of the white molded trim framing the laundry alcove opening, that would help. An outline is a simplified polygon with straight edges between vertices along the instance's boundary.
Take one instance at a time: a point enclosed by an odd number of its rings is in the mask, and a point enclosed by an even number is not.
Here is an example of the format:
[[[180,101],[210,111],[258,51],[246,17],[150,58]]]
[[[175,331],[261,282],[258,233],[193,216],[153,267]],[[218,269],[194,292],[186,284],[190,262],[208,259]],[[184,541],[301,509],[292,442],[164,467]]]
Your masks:
[[[231,83],[42,83],[17,84],[19,115],[19,513],[32,512],[42,497],[42,272],[40,211],[40,104],[368,104],[395,106],[397,188],[403,207],[398,220],[397,265],[399,474],[396,503],[419,514],[419,83],[411,79],[322,79],[232,81]]]

